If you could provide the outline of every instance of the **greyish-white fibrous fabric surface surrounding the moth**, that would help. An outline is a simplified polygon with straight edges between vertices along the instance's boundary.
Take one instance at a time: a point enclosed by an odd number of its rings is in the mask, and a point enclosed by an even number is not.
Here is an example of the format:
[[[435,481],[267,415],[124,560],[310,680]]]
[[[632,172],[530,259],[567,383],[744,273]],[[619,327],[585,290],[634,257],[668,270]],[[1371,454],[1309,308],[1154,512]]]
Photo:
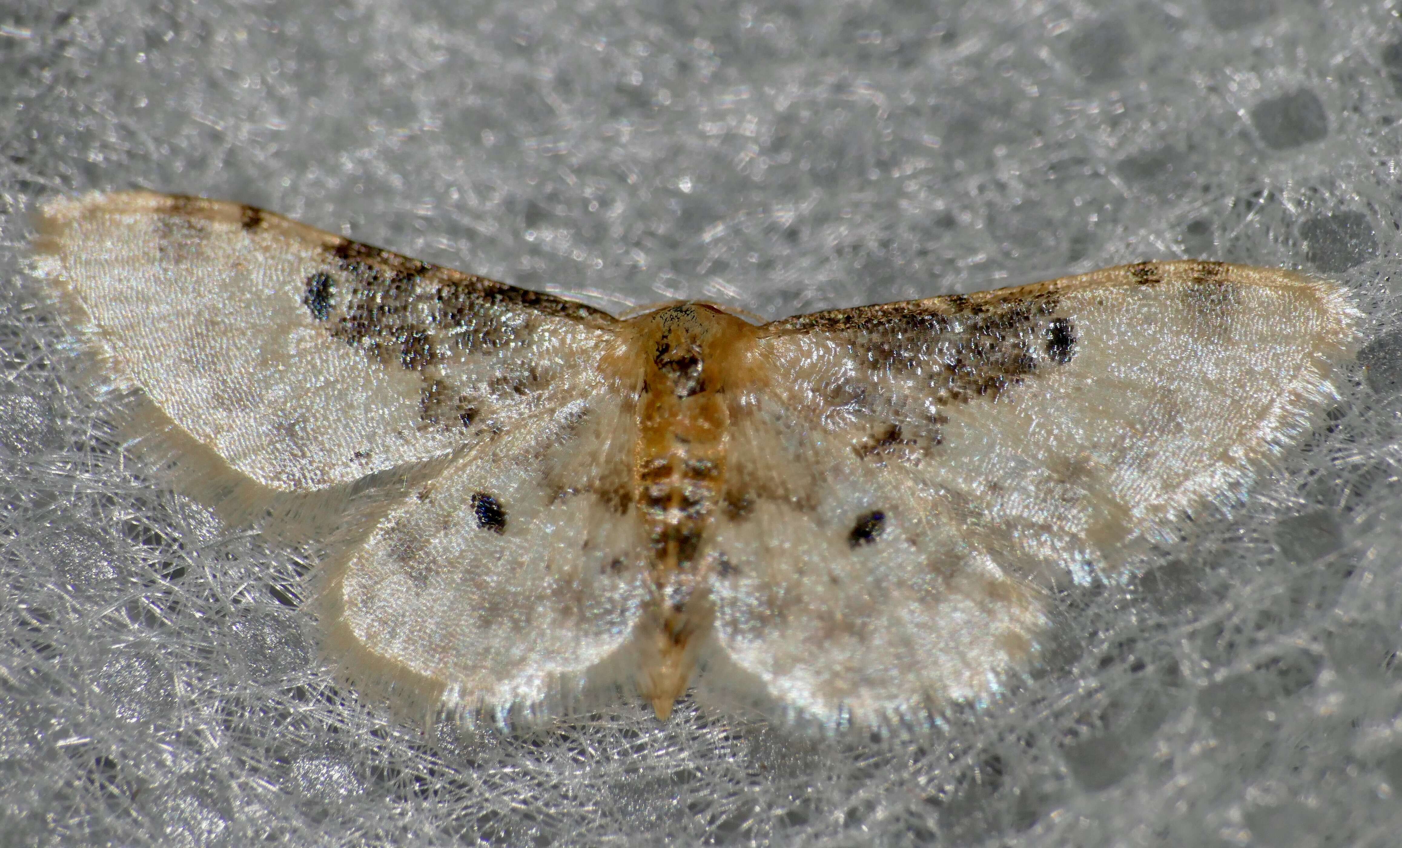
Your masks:
[[[0,844],[1395,845],[1399,7],[7,0]],[[123,450],[25,261],[39,202],[133,186],[613,311],[1203,257],[1336,279],[1364,335],[1238,507],[928,732],[463,734],[339,685],[307,551]]]

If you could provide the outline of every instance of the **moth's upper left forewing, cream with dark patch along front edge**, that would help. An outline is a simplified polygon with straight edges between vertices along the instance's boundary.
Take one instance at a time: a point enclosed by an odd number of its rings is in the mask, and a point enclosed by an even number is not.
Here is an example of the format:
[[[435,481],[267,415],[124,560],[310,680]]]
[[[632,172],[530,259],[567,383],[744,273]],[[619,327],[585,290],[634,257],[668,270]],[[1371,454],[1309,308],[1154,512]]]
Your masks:
[[[442,456],[597,391],[614,320],[237,203],[118,192],[39,219],[118,387],[262,486]]]

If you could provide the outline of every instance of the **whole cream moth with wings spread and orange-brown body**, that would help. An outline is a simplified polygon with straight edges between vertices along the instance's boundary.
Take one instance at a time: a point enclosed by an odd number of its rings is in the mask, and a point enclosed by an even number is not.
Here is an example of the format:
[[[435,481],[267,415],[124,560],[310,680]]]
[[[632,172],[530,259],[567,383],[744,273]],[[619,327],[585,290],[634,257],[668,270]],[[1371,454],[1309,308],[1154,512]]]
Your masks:
[[[666,719],[697,669],[829,727],[986,699],[1057,586],[1308,428],[1357,320],[1199,261],[620,320],[237,203],[97,193],[39,227],[142,444],[236,520],[325,531],[342,671],[502,722],[628,681]]]

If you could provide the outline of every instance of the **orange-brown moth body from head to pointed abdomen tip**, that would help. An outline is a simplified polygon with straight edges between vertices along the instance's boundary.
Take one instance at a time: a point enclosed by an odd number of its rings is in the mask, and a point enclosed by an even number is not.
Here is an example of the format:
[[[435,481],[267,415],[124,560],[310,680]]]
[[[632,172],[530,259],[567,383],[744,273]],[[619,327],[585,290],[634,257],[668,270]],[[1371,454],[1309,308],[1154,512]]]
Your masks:
[[[697,303],[663,307],[628,327],[631,359],[642,374],[634,502],[648,533],[655,587],[655,653],[642,688],[660,715],[686,690],[688,648],[709,628],[704,587],[714,569],[704,538],[725,491],[729,398],[751,378],[757,329]]]

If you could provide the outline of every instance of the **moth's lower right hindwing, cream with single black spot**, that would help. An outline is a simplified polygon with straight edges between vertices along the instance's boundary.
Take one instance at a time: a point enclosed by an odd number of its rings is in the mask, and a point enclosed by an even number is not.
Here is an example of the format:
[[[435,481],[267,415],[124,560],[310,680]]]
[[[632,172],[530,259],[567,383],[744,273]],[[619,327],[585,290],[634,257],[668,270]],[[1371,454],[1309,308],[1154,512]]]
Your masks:
[[[732,419],[730,444],[708,549],[718,683],[757,681],[761,701],[830,727],[878,726],[979,698],[1033,652],[1044,587],[1026,558],[994,555],[1007,528],[980,527],[962,492],[873,471],[848,433],[773,397]],[[746,674],[725,680],[729,663]]]

